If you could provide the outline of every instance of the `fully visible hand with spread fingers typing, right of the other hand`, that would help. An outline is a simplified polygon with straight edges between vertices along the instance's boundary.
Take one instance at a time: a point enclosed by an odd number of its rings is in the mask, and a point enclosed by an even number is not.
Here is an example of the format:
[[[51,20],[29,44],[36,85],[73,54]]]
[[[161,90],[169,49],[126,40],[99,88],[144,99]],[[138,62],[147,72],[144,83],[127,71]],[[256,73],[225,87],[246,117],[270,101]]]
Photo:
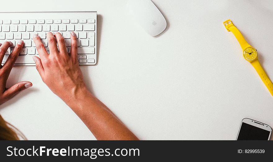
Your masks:
[[[65,47],[65,40],[60,33],[53,35],[47,33],[49,52],[47,53],[40,37],[34,34],[34,43],[40,58],[33,57],[42,80],[53,93],[59,96],[66,103],[70,98],[75,97],[78,91],[85,90],[83,74],[78,65],[77,59],[77,38],[71,32],[70,53]],[[56,41],[59,50],[56,46]]]

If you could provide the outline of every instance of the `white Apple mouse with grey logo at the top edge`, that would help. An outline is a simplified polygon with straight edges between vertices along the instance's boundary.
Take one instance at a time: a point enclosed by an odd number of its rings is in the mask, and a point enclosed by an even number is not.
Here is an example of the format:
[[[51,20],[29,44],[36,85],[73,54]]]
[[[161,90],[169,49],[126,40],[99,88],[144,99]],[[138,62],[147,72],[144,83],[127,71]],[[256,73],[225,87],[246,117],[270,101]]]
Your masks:
[[[162,33],[167,27],[164,16],[150,0],[129,0],[127,9],[151,36]]]

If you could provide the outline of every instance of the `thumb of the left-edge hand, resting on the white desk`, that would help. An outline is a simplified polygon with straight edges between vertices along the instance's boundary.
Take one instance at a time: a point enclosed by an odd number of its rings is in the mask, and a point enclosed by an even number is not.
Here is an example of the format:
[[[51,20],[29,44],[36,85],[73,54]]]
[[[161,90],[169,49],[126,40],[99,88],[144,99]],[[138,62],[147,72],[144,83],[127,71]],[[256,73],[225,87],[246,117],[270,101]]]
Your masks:
[[[3,93],[3,97],[6,99],[10,99],[15,96],[17,93],[23,91],[26,88],[32,87],[32,83],[28,81],[19,82],[10,88],[7,88]]]

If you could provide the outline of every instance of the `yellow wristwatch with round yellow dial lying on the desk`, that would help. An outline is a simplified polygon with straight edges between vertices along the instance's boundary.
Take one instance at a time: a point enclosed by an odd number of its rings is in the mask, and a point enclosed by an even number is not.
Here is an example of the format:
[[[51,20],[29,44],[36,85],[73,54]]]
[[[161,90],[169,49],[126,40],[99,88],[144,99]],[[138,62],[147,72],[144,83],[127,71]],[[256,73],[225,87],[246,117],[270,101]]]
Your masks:
[[[255,68],[259,76],[261,77],[263,83],[266,85],[267,89],[273,96],[273,84],[270,81],[270,79],[267,77],[265,71],[263,70],[262,66],[260,65],[258,61],[258,56],[257,56],[257,50],[250,46],[246,40],[244,39],[243,35],[240,33],[240,31],[233,25],[231,20],[226,20],[224,22],[224,25],[227,29],[227,31],[231,31],[238,42],[240,43],[240,46],[243,50],[243,56],[244,59],[248,62],[251,63],[251,65]]]

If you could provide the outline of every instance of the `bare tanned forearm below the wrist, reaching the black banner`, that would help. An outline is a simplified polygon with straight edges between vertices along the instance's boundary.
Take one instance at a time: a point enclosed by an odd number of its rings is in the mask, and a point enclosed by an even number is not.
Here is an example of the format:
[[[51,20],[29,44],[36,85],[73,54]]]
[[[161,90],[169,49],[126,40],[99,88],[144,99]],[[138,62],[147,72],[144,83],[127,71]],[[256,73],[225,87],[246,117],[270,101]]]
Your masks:
[[[98,140],[138,140],[138,138],[86,88],[65,101]]]

